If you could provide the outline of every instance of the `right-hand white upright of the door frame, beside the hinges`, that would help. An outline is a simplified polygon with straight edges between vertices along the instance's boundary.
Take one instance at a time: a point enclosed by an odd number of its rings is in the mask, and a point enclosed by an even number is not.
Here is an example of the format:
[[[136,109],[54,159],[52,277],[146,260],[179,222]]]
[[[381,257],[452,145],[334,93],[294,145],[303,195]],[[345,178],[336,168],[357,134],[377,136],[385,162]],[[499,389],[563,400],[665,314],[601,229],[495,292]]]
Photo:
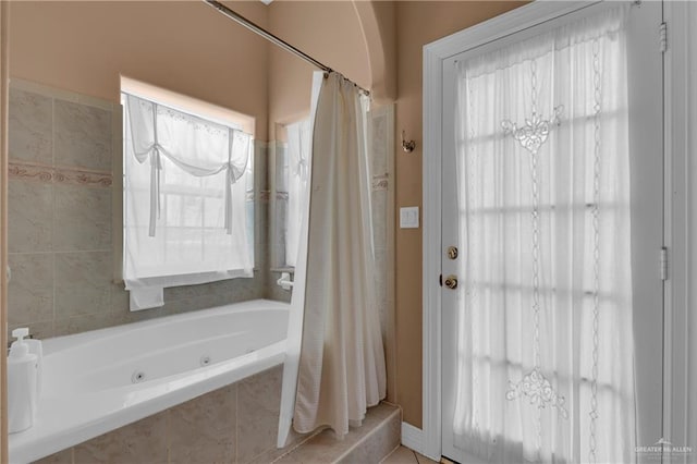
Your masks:
[[[668,26],[664,59],[664,152],[665,204],[664,242],[669,249],[668,280],[664,286],[663,328],[663,427],[674,445],[689,447],[692,453],[680,461],[693,462],[697,455],[697,49],[688,47],[687,2],[663,3]],[[695,37],[695,35],[693,35]],[[687,97],[687,98],[686,98]],[[692,109],[690,109],[692,107]],[[693,151],[692,154],[689,151]],[[690,157],[692,155],[692,157]],[[692,339],[692,341],[690,341]]]

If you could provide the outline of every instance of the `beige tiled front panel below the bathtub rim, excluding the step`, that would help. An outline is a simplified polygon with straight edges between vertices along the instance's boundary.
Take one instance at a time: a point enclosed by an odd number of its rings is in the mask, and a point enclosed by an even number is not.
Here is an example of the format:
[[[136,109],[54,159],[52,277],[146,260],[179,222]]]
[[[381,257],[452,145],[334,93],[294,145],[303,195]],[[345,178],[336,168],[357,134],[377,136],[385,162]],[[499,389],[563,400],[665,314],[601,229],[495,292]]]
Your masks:
[[[270,463],[284,452],[276,450],[282,373],[273,367],[37,463]]]

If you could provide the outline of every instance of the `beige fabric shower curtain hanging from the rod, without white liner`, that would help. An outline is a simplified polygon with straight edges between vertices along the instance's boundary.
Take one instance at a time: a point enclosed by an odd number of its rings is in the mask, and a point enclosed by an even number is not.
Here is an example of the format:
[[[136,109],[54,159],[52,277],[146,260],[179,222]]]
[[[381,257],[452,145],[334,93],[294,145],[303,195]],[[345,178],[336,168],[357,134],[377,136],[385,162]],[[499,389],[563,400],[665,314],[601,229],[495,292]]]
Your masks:
[[[322,82],[313,137],[307,270],[293,426],[358,425],[386,394],[375,291],[367,98],[337,73]],[[302,246],[301,246],[302,248]],[[296,291],[302,291],[296,288]]]

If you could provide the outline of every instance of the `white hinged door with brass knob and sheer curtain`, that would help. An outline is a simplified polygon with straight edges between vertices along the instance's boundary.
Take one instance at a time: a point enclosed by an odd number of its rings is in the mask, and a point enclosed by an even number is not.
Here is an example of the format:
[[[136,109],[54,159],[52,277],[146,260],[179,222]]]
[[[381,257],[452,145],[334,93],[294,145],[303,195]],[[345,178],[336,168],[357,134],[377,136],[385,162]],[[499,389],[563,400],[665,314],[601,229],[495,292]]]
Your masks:
[[[443,61],[441,436],[455,462],[657,460],[628,448],[663,437],[662,4],[617,13],[610,3]],[[599,19],[624,28],[623,56],[608,58],[622,40],[614,29],[602,33],[607,44],[596,40]],[[552,64],[525,57],[526,45],[543,47],[540,37],[554,34],[555,50],[590,46],[552,53]],[[508,87],[481,87],[482,75],[513,66],[511,53],[523,56],[523,71],[503,72]],[[584,73],[588,91],[576,88]],[[610,88],[606,73],[626,76],[625,101],[609,98],[622,84]],[[496,124],[464,120],[504,115],[506,106],[510,118],[489,117]],[[623,164],[614,151],[623,151],[625,117]],[[631,304],[616,301],[623,285]]]

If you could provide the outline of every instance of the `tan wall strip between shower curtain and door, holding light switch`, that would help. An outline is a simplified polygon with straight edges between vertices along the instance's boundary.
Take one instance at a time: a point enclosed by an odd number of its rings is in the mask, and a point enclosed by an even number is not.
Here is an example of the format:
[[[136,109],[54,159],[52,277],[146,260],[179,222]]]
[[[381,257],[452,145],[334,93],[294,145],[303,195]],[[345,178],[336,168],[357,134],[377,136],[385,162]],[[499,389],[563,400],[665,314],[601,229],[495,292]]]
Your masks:
[[[421,206],[421,102],[424,45],[519,7],[504,1],[408,1],[396,7],[396,131],[416,141],[411,154],[398,147],[396,210]],[[399,139],[399,138],[398,138]],[[395,218],[396,221],[396,218]],[[404,420],[421,426],[421,230],[396,227],[398,402]],[[438,276],[433,276],[437,279]]]

